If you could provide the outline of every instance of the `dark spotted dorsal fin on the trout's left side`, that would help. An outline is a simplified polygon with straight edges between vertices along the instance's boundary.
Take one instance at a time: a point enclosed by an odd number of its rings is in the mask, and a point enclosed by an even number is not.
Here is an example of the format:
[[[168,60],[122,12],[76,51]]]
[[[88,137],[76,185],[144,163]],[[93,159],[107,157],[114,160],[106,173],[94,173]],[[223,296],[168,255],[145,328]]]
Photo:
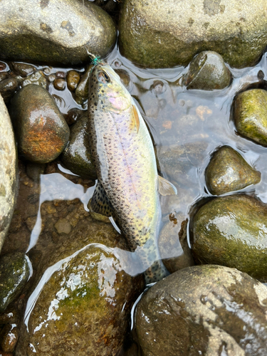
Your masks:
[[[109,217],[114,216],[112,204],[110,203],[107,194],[105,194],[105,189],[100,182],[96,184],[93,197],[88,203],[88,209],[90,210],[91,216],[95,220],[109,223]]]

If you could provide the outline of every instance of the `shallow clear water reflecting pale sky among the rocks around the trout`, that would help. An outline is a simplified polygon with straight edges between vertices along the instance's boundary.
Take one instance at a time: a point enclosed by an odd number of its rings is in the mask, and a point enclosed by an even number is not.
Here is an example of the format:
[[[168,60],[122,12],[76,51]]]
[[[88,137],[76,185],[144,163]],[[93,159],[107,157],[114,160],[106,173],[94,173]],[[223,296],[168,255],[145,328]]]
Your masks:
[[[236,134],[231,120],[231,103],[236,93],[252,86],[265,87],[266,54],[253,68],[236,70],[229,68],[233,75],[231,85],[224,90],[203,91],[187,90],[182,85],[182,75],[188,68],[178,67],[166,70],[142,69],[134,66],[120,55],[115,48],[105,58],[112,68],[125,70],[130,75],[128,90],[135,98],[140,111],[145,117],[155,142],[159,169],[178,189],[176,197],[162,198],[162,220],[168,221],[169,214],[175,214],[178,224],[190,219],[192,206],[204,197],[210,197],[206,188],[204,172],[210,155],[217,147],[229,145],[241,153],[246,161],[261,172],[261,182],[243,192],[253,192],[263,202],[267,202],[267,160],[266,148],[244,139]],[[37,67],[41,68],[41,67]],[[46,67],[42,67],[46,68]],[[77,68],[75,68],[77,69]],[[46,75],[69,68],[48,68]],[[83,68],[78,68],[82,71]],[[263,72],[258,75],[259,71]],[[261,79],[258,79],[260,77]],[[86,110],[75,103],[73,95],[66,90],[58,91],[49,85],[49,92],[56,99],[61,112],[67,113],[71,108]],[[169,168],[166,152],[174,150],[176,163]],[[58,164],[61,172],[71,174]],[[90,185],[90,184],[89,184]],[[93,187],[70,181],[59,172],[41,174],[38,196],[37,219],[31,230],[31,239],[26,251],[30,251],[38,241],[41,232],[41,205],[45,201],[79,199],[88,211],[87,204],[92,197]],[[189,236],[187,236],[189,239]],[[13,248],[19,246],[15,241]],[[4,253],[6,253],[4,249]]]

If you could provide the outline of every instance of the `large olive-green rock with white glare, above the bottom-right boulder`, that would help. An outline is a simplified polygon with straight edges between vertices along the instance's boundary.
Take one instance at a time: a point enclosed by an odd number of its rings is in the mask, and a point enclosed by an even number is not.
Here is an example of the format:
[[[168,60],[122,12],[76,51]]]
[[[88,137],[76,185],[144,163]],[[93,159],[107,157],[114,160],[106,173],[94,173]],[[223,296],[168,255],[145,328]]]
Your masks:
[[[215,198],[192,221],[193,256],[199,263],[238,268],[267,281],[267,206],[245,194]]]

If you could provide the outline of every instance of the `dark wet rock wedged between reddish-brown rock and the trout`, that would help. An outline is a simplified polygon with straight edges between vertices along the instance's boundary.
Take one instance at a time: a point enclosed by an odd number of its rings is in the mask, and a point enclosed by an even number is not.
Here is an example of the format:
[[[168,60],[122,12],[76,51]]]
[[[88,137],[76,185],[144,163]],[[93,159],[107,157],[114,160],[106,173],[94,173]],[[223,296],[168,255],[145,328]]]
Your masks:
[[[71,172],[84,178],[97,179],[90,153],[87,122],[88,115],[85,112],[70,128],[70,140],[61,155],[61,161]]]

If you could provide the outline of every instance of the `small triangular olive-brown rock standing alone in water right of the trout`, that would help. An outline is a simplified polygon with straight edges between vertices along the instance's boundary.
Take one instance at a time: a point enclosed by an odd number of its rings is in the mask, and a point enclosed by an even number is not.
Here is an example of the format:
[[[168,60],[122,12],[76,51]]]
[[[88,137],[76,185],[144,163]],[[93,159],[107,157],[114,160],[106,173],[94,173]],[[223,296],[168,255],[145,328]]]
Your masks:
[[[261,181],[261,173],[229,146],[222,146],[214,152],[205,175],[206,186],[214,195],[233,192]]]

